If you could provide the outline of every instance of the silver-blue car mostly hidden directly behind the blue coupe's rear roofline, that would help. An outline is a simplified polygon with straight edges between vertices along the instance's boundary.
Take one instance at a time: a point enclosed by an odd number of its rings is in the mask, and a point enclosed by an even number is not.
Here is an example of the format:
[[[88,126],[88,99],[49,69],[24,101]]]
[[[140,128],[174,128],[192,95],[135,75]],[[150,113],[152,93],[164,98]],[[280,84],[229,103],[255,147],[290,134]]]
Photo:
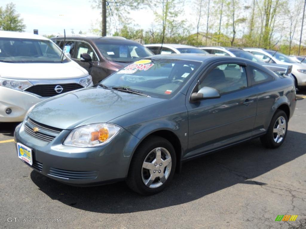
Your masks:
[[[244,58],[247,60],[252,60],[262,65],[263,67],[270,69],[271,71],[275,73],[278,73],[280,75],[282,74],[289,75],[290,77],[293,78],[293,76],[291,76],[291,74],[289,73],[289,71],[292,70],[291,65],[266,63],[263,60],[259,59],[258,57],[254,56],[253,54],[247,51],[244,51],[243,49],[239,49],[235,47],[221,47],[221,46],[207,46],[207,47],[200,47],[200,49],[203,49],[207,51],[208,53],[214,54],[217,56],[233,56],[233,57]]]

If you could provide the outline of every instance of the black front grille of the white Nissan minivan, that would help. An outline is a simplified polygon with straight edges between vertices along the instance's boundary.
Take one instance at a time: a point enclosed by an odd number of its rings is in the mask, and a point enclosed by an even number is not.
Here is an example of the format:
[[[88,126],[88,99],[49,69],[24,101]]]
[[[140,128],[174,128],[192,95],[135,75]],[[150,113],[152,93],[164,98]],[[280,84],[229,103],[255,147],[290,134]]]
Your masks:
[[[55,87],[60,86],[62,87],[62,92],[57,93],[55,91]],[[59,88],[60,88],[59,87]],[[34,85],[32,87],[29,87],[25,91],[34,93],[36,95],[42,96],[42,97],[51,97],[56,96],[65,92],[73,91],[76,89],[83,88],[82,85],[78,83],[65,83],[65,84],[38,84]]]

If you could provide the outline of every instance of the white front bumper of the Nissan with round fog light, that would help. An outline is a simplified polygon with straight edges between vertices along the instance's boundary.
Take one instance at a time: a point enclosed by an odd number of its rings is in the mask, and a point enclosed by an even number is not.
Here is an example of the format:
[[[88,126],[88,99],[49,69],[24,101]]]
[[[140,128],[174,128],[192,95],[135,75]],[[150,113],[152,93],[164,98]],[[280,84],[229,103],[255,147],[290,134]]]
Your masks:
[[[21,122],[30,107],[45,99],[31,93],[0,87],[0,122]],[[8,108],[12,113],[6,114]]]

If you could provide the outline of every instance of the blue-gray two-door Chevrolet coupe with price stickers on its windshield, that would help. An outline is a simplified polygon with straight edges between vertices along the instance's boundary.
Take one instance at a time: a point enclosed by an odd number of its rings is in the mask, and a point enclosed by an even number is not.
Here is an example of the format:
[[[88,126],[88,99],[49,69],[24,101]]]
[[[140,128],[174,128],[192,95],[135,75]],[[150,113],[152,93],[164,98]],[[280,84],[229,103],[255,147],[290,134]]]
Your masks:
[[[157,55],[36,104],[14,135],[18,157],[54,180],[155,194],[191,158],[256,137],[279,147],[295,106],[293,80],[255,62]]]

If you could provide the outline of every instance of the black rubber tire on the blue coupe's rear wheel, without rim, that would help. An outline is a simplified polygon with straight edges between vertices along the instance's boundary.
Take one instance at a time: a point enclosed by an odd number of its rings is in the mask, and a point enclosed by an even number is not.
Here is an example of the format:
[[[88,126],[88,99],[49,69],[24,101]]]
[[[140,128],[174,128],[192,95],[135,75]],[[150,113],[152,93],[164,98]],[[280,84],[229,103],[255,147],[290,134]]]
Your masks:
[[[282,140],[280,142],[275,142],[274,137],[277,135],[277,133],[273,133],[274,125],[276,125],[276,121],[278,118],[283,117],[285,119],[285,134],[282,137]],[[280,147],[283,142],[285,141],[285,138],[287,136],[287,130],[288,130],[288,117],[285,113],[285,111],[277,110],[271,120],[271,123],[269,125],[269,128],[267,130],[267,133],[260,137],[261,143],[267,147],[267,148],[278,148]]]

